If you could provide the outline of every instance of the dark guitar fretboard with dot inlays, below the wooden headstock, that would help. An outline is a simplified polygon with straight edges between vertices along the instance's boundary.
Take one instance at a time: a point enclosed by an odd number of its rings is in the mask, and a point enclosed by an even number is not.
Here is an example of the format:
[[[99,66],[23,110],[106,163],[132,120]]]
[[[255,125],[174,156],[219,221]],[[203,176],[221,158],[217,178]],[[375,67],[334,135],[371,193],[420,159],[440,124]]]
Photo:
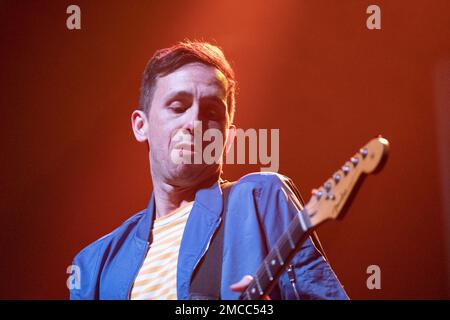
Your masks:
[[[268,294],[311,229],[306,211],[294,218],[264,259],[240,300],[260,300]]]

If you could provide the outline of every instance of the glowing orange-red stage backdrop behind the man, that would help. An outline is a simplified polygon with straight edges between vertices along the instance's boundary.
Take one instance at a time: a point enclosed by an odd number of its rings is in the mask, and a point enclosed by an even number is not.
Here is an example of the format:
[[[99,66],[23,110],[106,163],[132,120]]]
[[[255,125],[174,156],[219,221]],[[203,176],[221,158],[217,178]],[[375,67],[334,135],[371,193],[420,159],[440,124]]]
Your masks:
[[[279,172],[305,198],[388,138],[384,170],[320,238],[351,298],[450,297],[449,1],[76,1],[69,31],[73,3],[0,3],[0,298],[67,298],[73,256],[147,205],[130,113],[153,52],[185,38],[224,49],[236,125],[280,129]],[[366,287],[372,264],[381,290]]]

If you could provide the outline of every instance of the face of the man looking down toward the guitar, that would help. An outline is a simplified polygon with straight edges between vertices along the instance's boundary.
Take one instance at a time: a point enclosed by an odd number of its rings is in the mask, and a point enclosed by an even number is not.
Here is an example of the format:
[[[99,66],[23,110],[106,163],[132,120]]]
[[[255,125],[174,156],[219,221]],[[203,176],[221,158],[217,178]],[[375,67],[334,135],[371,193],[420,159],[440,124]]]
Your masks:
[[[201,157],[201,163],[194,164],[196,151],[204,148],[202,144],[195,150],[194,131],[198,132],[198,126],[202,133],[214,128],[225,141],[229,121],[227,85],[218,69],[201,63],[184,65],[157,79],[147,131],[153,178],[185,187],[218,175],[220,163],[207,165]]]

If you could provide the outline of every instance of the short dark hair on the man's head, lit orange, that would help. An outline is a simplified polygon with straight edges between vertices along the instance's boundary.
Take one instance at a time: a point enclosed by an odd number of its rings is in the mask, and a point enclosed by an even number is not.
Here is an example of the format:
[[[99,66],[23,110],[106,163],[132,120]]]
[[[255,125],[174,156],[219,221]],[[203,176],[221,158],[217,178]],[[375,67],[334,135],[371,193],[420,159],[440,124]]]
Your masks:
[[[222,50],[208,42],[183,41],[155,52],[144,70],[139,109],[148,112],[158,77],[168,75],[188,63],[200,62],[220,70],[227,79],[227,106],[230,121],[235,111],[236,81],[234,71]]]

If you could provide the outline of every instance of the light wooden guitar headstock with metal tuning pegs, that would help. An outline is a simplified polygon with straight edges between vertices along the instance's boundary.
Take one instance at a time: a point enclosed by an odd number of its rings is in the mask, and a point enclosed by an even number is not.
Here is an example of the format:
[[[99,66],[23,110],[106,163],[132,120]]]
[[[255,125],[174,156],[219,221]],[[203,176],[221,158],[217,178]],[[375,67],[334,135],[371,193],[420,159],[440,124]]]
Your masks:
[[[353,155],[318,189],[313,190],[305,209],[312,226],[342,217],[365,175],[380,171],[387,160],[389,142],[379,136]]]

